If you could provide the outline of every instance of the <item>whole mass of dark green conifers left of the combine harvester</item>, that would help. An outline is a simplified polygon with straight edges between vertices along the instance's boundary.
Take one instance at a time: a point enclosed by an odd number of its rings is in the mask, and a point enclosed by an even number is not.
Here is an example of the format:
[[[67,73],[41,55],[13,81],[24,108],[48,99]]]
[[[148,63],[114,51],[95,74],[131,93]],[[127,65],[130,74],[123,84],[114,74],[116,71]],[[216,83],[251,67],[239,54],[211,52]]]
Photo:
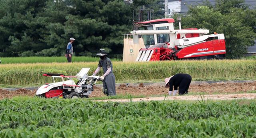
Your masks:
[[[76,55],[104,47],[121,57],[132,11],[144,5],[164,15],[161,0],[0,0],[0,57],[63,56],[70,37]]]

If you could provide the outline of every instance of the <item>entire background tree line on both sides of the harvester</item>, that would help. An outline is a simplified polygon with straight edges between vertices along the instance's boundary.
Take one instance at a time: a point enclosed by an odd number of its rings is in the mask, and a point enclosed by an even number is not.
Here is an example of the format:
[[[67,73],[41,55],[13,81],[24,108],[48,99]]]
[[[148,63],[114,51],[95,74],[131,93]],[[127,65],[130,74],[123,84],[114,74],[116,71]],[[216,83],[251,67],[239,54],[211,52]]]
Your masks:
[[[64,56],[70,37],[74,53],[94,56],[105,48],[122,58],[123,35],[132,30],[133,12],[154,9],[164,18],[163,0],[0,0],[0,57]],[[256,10],[244,0],[216,0],[190,7],[184,28],[224,33],[229,57],[240,57],[254,44]],[[176,24],[176,27],[178,25]]]

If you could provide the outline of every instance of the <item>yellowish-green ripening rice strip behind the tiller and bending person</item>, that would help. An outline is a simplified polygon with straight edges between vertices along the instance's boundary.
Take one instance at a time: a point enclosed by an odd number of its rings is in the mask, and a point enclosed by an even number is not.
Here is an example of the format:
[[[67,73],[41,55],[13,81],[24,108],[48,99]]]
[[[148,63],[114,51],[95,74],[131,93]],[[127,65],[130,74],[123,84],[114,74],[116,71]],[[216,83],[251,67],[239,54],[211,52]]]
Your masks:
[[[28,63],[1,64],[0,85],[41,85],[52,82],[43,73],[63,73],[76,75],[83,67],[91,68],[91,75],[98,62],[76,63]],[[116,82],[164,81],[176,73],[188,73],[193,80],[255,80],[256,60],[193,60],[193,61],[156,61],[122,62],[113,61]],[[98,75],[102,75],[100,72]]]

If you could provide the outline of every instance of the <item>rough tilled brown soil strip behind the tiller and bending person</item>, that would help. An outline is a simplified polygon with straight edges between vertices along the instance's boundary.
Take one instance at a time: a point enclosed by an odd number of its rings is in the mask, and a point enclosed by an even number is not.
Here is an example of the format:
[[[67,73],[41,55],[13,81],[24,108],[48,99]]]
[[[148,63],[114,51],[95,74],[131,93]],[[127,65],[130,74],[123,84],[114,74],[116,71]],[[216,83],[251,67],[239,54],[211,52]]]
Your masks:
[[[242,94],[237,94],[244,96],[243,94],[246,94],[248,91],[256,90],[256,82],[253,83],[212,83],[212,84],[200,84],[200,85],[190,85],[189,93],[193,94],[195,92],[204,92],[204,95],[212,95],[213,93],[218,93],[220,97],[227,98],[226,94],[230,93],[236,93],[236,92],[242,92]],[[144,95],[146,97],[151,97],[152,95],[165,95],[168,93],[168,88],[164,88],[163,86],[148,86],[144,87],[143,84],[141,84],[138,87],[134,86],[128,86],[126,85],[120,85],[119,87],[116,87],[116,94],[117,95]],[[4,98],[12,98],[15,96],[34,96],[36,95],[36,90],[26,90],[26,89],[18,89],[16,91],[7,91],[0,89],[0,99]],[[102,93],[102,88],[100,87],[94,87],[94,91],[90,97],[103,97],[104,94]],[[216,95],[214,95],[216,96]],[[180,98],[181,96],[178,96],[177,98]],[[183,97],[183,96],[182,96]],[[185,100],[188,97],[194,97],[193,99],[196,99],[198,95],[190,95],[185,96]],[[155,97],[157,98],[157,97]],[[170,97],[176,99],[176,97]],[[217,97],[218,98],[218,97]],[[206,98],[207,99],[207,98]],[[127,99],[125,99],[127,100]],[[189,99],[187,99],[189,100]]]

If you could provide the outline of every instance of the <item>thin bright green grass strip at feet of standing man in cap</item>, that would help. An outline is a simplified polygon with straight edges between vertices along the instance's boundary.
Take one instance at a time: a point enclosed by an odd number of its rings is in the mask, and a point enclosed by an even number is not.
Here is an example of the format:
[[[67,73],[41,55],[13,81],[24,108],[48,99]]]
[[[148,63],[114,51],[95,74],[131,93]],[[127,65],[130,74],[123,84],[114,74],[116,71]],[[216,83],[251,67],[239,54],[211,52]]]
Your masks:
[[[52,62],[67,62],[66,57],[0,57],[1,64],[14,63],[52,63]],[[113,61],[121,61],[121,59],[112,59]],[[83,57],[73,56],[73,62],[95,62],[99,61],[98,57]]]

